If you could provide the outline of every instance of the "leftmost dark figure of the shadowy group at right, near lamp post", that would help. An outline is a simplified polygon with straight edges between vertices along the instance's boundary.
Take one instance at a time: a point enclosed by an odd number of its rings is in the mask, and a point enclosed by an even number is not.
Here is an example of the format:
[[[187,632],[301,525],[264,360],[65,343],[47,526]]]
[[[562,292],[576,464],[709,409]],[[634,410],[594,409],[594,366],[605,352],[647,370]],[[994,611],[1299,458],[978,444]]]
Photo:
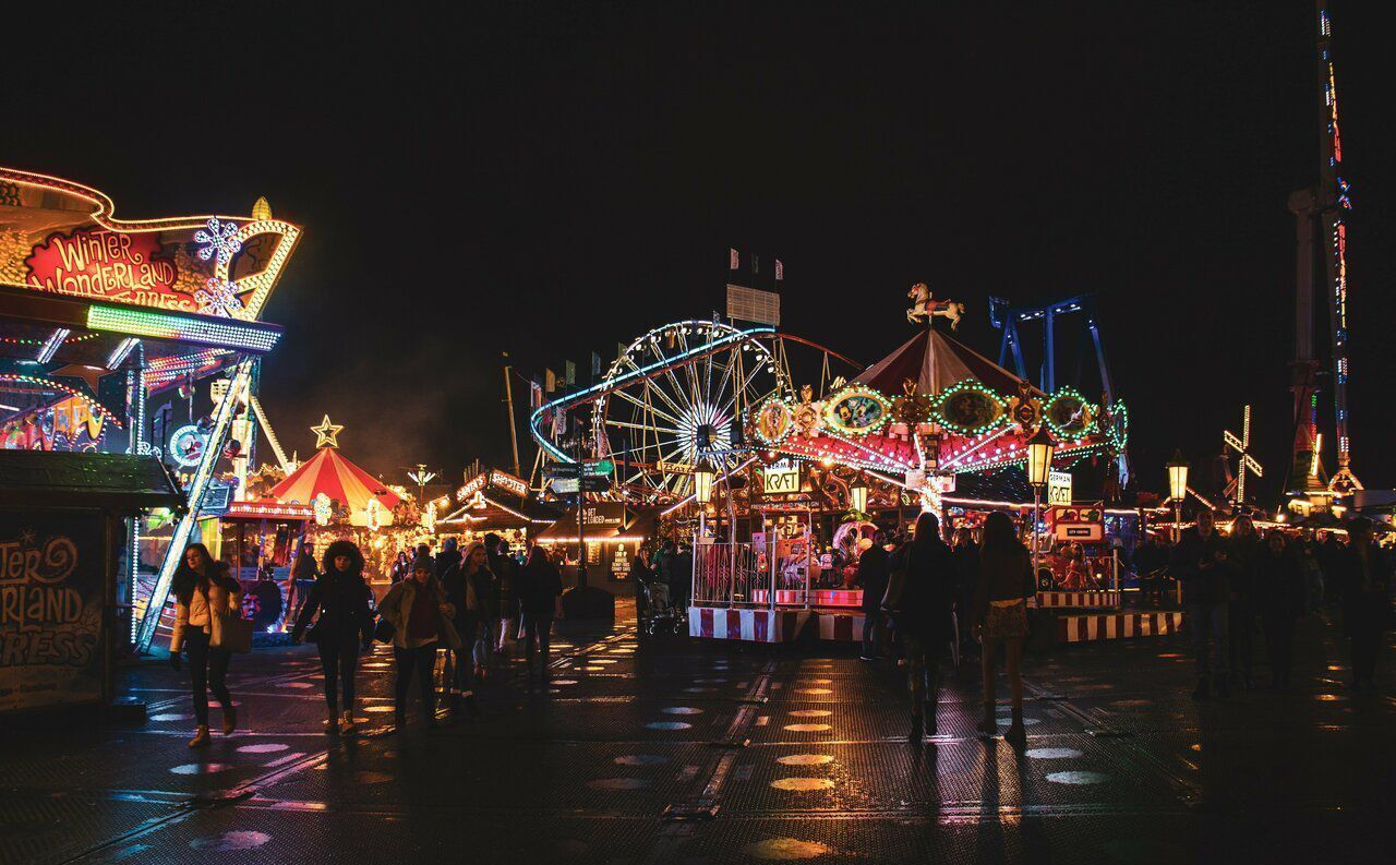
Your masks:
[[[1182,583],[1182,603],[1188,608],[1188,631],[1192,633],[1192,654],[1198,668],[1198,686],[1192,699],[1205,700],[1212,696],[1213,678],[1217,696],[1230,696],[1227,600],[1231,593],[1231,546],[1213,526],[1212,511],[1201,511],[1198,525],[1178,539],[1168,569]]]

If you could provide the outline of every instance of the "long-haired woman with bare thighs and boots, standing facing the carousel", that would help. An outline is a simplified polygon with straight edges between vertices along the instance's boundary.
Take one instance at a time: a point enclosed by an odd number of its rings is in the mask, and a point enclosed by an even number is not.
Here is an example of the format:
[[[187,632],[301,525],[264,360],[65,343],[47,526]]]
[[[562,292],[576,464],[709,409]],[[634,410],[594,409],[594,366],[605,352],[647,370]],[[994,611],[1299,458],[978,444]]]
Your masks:
[[[994,716],[994,679],[998,647],[1008,657],[1008,686],[1013,700],[1013,721],[1004,738],[1013,745],[1027,741],[1023,728],[1023,640],[1027,639],[1027,599],[1036,594],[1033,561],[1018,540],[1013,522],[995,511],[984,520],[984,543],[979,551],[979,590],[974,593],[974,635],[984,643],[984,720],[980,732],[998,731]]]

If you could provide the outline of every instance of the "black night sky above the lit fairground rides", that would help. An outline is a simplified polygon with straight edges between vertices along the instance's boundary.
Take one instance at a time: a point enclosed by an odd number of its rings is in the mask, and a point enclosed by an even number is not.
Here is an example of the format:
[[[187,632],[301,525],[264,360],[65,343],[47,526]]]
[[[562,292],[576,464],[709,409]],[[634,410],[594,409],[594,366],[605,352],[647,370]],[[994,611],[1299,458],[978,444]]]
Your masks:
[[[306,226],[262,384],[302,456],[328,412],[396,480],[503,463],[501,352],[585,374],[593,349],[720,310],[733,246],[785,262],[786,331],[864,363],[912,335],[916,280],[965,301],[962,339],[993,357],[988,296],[1096,292],[1145,486],[1175,445],[1213,456],[1249,400],[1279,492],[1311,3],[297,6],[11,20],[0,162],[128,218],[267,195]],[[1378,7],[1333,10],[1369,487],[1396,480]]]

